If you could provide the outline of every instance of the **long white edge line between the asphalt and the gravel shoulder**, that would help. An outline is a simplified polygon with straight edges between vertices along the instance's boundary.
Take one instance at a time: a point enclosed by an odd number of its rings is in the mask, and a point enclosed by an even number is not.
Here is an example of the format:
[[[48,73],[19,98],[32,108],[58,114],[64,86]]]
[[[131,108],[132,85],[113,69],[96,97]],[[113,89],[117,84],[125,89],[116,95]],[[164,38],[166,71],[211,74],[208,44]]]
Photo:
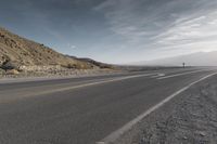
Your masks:
[[[207,78],[209,78],[209,77],[212,77],[214,75],[217,75],[217,73],[207,75],[207,76],[199,79],[197,81],[194,81],[194,82],[188,84],[187,87],[180,89],[179,91],[177,91],[174,94],[169,95],[168,97],[166,97],[165,100],[163,100],[162,102],[159,102],[155,106],[151,107],[150,109],[148,109],[146,112],[144,112],[143,114],[141,114],[140,116],[138,116],[137,118],[135,118],[133,120],[129,121],[127,125],[125,125],[120,129],[114,131],[113,133],[111,133],[110,135],[107,135],[106,138],[104,138],[102,141],[97,142],[97,144],[113,144],[116,140],[118,140],[118,138],[120,138],[125,132],[129,131],[135,125],[137,125],[138,122],[140,122],[148,115],[150,115],[154,110],[158,109],[165,103],[169,102],[171,99],[174,99],[178,94],[184,92],[186,90],[188,90],[193,84],[199,83],[200,81],[203,81],[203,80],[205,80],[205,79],[207,79]]]

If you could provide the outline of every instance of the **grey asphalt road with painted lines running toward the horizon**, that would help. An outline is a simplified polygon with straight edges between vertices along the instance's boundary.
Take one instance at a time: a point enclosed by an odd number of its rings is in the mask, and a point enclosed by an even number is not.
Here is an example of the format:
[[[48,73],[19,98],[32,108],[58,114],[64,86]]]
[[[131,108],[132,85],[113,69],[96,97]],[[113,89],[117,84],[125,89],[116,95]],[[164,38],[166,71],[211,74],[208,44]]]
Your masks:
[[[0,83],[0,144],[94,144],[208,68]]]

